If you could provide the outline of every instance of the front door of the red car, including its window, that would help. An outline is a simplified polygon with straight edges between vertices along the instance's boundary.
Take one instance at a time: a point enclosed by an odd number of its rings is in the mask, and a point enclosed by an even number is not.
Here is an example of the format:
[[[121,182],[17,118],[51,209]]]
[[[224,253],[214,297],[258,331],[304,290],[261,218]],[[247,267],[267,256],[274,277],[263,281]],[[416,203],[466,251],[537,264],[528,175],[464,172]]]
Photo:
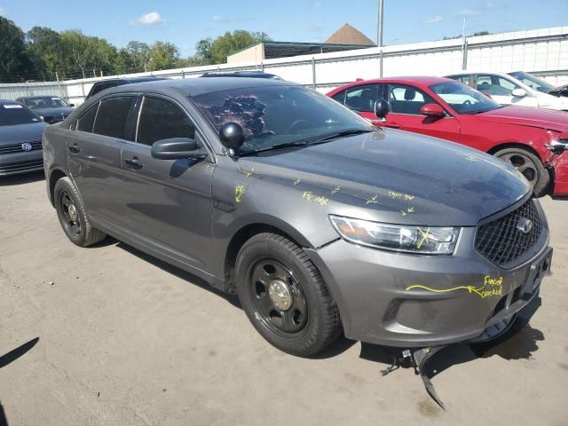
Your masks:
[[[420,114],[422,106],[438,104],[430,95],[412,85],[400,83],[389,83],[387,91],[390,113],[386,122],[380,125],[436,138],[459,140],[460,123],[452,115],[446,113],[444,117],[428,117]],[[444,106],[442,108],[445,109]]]

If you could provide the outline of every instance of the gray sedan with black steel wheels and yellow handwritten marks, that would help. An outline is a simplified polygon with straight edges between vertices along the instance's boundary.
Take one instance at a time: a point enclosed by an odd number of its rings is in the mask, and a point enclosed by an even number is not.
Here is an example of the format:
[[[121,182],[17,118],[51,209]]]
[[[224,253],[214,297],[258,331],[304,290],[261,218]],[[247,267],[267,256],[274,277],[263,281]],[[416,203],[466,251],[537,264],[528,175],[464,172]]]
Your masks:
[[[300,356],[342,331],[410,348],[492,338],[550,267],[546,218],[512,166],[377,130],[294,83],[129,84],[43,142],[71,241],[110,234],[236,293]]]

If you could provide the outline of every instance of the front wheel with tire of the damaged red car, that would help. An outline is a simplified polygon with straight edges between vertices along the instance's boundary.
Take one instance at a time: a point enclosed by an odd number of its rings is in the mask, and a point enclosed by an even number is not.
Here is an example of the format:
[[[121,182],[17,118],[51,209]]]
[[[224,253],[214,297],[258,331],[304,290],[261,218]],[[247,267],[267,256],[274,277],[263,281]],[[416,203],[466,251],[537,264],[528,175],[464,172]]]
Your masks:
[[[537,197],[547,193],[550,173],[535,154],[523,148],[505,148],[496,152],[495,156],[515,166],[533,186],[534,194]]]

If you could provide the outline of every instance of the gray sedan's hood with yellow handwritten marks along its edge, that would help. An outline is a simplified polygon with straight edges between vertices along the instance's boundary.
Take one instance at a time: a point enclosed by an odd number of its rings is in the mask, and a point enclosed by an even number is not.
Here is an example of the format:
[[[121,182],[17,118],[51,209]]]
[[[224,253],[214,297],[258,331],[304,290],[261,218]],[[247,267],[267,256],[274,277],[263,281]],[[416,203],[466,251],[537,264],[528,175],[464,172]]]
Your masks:
[[[239,166],[328,214],[395,224],[474,226],[531,191],[491,155],[390,129],[241,157]]]

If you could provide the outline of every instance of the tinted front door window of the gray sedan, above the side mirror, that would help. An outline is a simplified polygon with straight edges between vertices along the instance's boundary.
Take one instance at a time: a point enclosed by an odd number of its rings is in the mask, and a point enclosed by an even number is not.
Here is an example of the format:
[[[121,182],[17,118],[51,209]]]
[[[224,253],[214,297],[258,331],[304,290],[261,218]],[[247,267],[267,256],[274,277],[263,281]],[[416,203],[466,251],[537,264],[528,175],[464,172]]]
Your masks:
[[[136,141],[152,145],[168,138],[195,138],[195,128],[179,107],[158,98],[145,98],[138,122]]]

